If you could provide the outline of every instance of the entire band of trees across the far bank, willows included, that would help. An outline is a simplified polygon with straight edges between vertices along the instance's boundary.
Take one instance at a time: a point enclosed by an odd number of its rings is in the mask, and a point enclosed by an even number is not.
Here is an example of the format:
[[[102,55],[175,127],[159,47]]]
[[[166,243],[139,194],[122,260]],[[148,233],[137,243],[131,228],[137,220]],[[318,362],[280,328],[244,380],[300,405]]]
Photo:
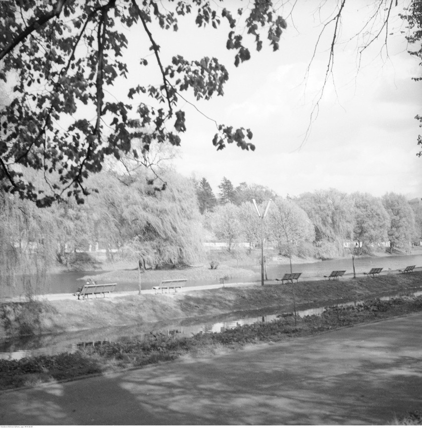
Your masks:
[[[31,179],[43,184],[36,171]],[[261,212],[272,204],[263,222],[264,239],[280,255],[329,259],[343,256],[344,242],[357,242],[357,254],[390,242],[389,251],[410,251],[422,236],[422,205],[402,195],[375,198],[348,195],[335,189],[282,198],[262,185],[223,178],[217,197],[208,181],[188,179],[168,166],[154,171],[138,160],[108,165],[89,178],[98,189],[78,204],[70,197],[48,208],[0,193],[0,283],[24,281],[30,290],[55,264],[75,268],[89,245],[100,243],[109,261],[132,261],[141,273],[147,268],[204,263],[202,243],[213,238],[227,243],[230,253],[240,243],[261,242]],[[207,238],[204,238],[207,235]],[[31,278],[41,278],[31,280]]]

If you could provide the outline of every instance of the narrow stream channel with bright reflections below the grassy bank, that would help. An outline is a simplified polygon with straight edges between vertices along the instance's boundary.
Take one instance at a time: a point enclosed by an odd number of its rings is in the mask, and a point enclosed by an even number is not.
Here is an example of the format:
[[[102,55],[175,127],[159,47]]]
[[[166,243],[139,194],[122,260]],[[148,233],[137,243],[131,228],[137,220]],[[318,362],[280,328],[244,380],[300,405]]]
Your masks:
[[[421,296],[422,291],[401,292],[394,294],[377,294],[368,296],[365,300],[379,298],[389,300],[403,295]],[[327,307],[335,305],[352,306],[363,301],[329,300],[322,306],[312,307],[312,304],[297,305],[299,317],[320,315]],[[104,342],[113,342],[122,337],[138,336],[143,338],[154,332],[166,335],[191,336],[200,332],[221,332],[229,328],[256,322],[270,322],[280,316],[293,314],[291,305],[279,308],[239,311],[231,314],[213,317],[204,321],[183,319],[178,321],[146,323],[123,327],[107,327],[96,330],[83,330],[41,336],[28,336],[0,340],[0,359],[19,360],[25,357],[39,355],[57,355],[63,352],[74,353],[87,346],[96,346]]]

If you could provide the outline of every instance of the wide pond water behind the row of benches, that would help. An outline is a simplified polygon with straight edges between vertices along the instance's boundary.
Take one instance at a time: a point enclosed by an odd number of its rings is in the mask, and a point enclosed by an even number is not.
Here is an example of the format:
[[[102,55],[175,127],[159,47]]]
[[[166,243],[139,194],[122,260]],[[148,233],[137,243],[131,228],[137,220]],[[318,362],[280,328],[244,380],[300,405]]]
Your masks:
[[[368,272],[370,268],[383,268],[384,271],[397,270],[406,268],[406,266],[416,265],[422,266],[422,254],[409,255],[409,256],[384,256],[384,257],[356,257],[355,270],[356,273]],[[247,268],[253,270],[255,275],[249,278],[230,278],[227,282],[245,282],[245,281],[259,281],[261,279],[261,266],[239,266],[240,268]],[[353,274],[352,257],[348,259],[325,260],[315,263],[299,263],[293,264],[293,272],[302,272],[301,279],[317,279],[323,278],[324,275],[329,275],[332,270],[346,270],[346,276]],[[105,270],[87,270],[79,272],[60,272],[51,274],[46,285],[40,290],[41,294],[48,293],[74,293],[81,287],[85,280],[84,277],[95,276],[100,273],[106,272]],[[266,267],[268,279],[282,278],[284,273],[290,272],[289,264],[271,265]],[[210,280],[192,280],[188,281],[186,286],[194,285],[209,285],[215,281]],[[153,286],[158,285],[157,282],[144,282],[142,289],[151,289]],[[119,280],[118,291],[135,291],[138,289],[137,281]],[[0,287],[0,297],[10,297],[22,294],[22,290]]]

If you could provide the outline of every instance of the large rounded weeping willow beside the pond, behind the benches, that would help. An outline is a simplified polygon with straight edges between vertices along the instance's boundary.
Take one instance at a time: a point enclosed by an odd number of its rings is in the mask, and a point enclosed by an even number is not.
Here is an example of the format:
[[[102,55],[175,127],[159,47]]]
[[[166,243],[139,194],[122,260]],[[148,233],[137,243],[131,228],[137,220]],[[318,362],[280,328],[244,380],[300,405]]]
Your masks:
[[[161,171],[165,185],[157,186],[150,174],[140,167],[130,175],[108,171],[94,177],[99,193],[89,204],[95,206],[97,229],[122,257],[136,260],[139,272],[198,262],[202,228],[193,183]]]

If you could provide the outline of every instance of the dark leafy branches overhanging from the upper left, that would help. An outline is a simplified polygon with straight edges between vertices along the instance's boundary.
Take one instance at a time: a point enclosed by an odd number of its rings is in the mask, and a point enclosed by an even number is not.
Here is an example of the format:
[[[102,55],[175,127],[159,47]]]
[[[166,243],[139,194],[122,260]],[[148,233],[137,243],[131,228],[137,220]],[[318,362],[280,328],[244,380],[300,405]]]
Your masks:
[[[131,152],[131,141],[148,152],[152,141],[180,144],[186,130],[181,93],[196,100],[224,94],[228,72],[217,58],[186,59],[177,52],[163,63],[151,28],[177,31],[178,19],[190,15],[198,27],[218,31],[228,24],[226,48],[234,63],[251,57],[244,34],[263,46],[263,33],[278,49],[286,21],[272,1],[242,3],[236,11],[229,1],[169,0],[28,0],[0,2],[0,79],[11,87],[10,102],[0,110],[0,179],[5,190],[35,201],[39,207],[74,195],[83,203],[84,180],[102,169],[106,156]],[[136,30],[133,29],[136,27]],[[246,30],[246,31],[245,31]],[[130,79],[124,60],[126,31],[139,32],[150,45],[148,60],[161,83],[136,85],[120,99],[111,96],[120,79]],[[138,34],[138,33],[136,33]],[[131,55],[136,55],[132,52]],[[137,76],[135,76],[137,77]],[[81,110],[81,107],[84,106]],[[145,131],[145,129],[148,131]],[[254,150],[250,129],[217,124],[212,139],[217,150],[236,143]],[[132,151],[136,158],[140,154]],[[36,188],[19,165],[44,171],[48,191]]]

